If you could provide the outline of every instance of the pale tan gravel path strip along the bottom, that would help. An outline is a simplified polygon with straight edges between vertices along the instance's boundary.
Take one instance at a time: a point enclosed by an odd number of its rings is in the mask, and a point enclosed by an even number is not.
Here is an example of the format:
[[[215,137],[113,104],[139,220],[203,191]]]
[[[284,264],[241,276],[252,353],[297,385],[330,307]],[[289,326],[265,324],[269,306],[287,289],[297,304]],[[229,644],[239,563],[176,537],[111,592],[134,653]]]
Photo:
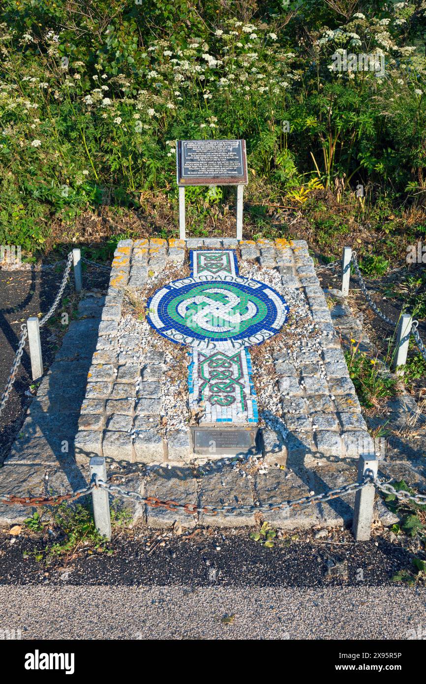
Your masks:
[[[406,640],[426,590],[0,587],[0,624],[23,639]]]

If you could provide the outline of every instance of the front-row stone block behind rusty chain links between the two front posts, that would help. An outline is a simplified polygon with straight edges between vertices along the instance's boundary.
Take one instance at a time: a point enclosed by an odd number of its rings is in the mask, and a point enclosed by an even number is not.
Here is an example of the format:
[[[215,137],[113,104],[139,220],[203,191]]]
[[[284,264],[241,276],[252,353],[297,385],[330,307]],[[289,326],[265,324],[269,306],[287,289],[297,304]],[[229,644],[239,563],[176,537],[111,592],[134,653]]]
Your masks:
[[[189,468],[155,468],[146,479],[146,497],[156,497],[176,501],[176,503],[194,503],[197,505],[196,479]],[[197,516],[166,508],[146,507],[146,520],[150,527],[170,527],[178,521],[183,527],[193,528]]]

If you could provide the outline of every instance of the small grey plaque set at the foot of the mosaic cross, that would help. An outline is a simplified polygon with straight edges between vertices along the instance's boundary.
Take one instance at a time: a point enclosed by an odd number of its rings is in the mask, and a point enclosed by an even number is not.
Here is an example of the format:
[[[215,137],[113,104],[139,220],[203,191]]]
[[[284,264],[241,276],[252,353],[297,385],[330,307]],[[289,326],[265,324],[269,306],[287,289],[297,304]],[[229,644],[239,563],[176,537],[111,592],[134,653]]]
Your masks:
[[[237,456],[256,453],[253,428],[192,428],[194,453],[200,456]]]

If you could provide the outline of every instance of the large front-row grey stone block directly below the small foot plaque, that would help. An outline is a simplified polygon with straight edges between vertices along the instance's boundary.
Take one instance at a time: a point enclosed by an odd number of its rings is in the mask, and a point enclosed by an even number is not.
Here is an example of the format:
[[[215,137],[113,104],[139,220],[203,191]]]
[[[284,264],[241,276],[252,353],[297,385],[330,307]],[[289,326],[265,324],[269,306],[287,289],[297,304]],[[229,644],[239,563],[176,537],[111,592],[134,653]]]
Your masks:
[[[254,505],[252,486],[247,477],[232,470],[213,472],[203,475],[199,494],[200,508],[215,505],[217,508],[226,505]],[[217,514],[200,513],[201,525],[220,525],[220,527],[244,527],[254,525],[254,510],[217,512]]]

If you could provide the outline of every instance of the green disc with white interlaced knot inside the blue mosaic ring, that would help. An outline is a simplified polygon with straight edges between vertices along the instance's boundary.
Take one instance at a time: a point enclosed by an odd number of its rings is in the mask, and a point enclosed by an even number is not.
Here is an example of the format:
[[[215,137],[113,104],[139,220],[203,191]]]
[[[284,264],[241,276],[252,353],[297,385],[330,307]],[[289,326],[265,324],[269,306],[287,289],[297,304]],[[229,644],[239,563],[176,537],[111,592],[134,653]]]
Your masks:
[[[241,334],[267,317],[265,302],[228,282],[202,284],[176,295],[167,311],[176,323],[211,339]]]

